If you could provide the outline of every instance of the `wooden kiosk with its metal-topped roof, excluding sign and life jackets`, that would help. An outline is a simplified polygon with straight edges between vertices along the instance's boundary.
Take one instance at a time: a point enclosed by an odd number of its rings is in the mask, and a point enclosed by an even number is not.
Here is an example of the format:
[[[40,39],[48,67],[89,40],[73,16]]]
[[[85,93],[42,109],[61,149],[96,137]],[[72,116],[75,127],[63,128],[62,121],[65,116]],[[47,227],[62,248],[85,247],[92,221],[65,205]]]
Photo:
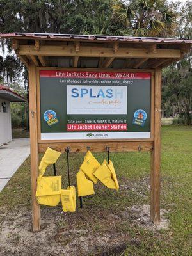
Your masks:
[[[38,152],[47,147],[61,152],[70,146],[72,152],[104,151],[151,152],[151,219],[160,221],[161,157],[161,69],[180,60],[192,41],[171,38],[135,38],[122,36],[64,35],[41,33],[1,34],[12,40],[12,49],[29,70],[29,113],[31,140],[31,188],[33,231],[40,230],[40,205],[35,198],[38,177]],[[42,140],[40,136],[40,70],[118,71],[151,74],[150,136],[92,140]]]

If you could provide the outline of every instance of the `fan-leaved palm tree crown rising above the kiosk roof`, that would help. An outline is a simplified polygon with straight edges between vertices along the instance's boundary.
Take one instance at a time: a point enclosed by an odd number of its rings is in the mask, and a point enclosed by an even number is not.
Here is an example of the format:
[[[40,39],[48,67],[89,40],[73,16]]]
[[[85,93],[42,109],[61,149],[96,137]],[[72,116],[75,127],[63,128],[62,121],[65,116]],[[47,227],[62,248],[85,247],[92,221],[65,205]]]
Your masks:
[[[119,35],[172,36],[176,14],[166,0],[116,1],[113,22],[118,22]]]

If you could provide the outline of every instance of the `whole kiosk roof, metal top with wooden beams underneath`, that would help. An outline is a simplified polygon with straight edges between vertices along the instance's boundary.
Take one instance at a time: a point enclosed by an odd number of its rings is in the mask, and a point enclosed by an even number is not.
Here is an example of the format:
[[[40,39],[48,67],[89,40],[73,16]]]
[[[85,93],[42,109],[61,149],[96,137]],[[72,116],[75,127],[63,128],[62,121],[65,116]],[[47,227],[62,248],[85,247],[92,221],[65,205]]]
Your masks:
[[[189,52],[192,40],[55,33],[0,34],[28,67],[164,68]]]

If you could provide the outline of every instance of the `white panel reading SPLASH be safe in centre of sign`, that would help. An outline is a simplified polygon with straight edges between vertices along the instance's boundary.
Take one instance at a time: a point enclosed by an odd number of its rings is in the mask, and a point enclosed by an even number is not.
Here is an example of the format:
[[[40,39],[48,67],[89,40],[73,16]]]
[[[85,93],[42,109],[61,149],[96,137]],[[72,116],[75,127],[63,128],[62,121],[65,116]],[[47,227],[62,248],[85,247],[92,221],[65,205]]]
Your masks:
[[[67,115],[127,115],[127,86],[67,85]]]

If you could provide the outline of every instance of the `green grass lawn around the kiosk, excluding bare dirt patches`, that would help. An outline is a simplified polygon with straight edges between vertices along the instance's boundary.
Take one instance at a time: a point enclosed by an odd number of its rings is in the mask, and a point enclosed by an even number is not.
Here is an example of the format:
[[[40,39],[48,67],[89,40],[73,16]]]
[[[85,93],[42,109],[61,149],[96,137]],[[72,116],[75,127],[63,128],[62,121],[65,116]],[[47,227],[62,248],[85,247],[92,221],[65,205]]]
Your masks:
[[[100,162],[106,157],[106,154],[94,155]],[[83,161],[83,156],[84,154],[70,154],[71,179],[75,185],[76,172]],[[124,212],[131,205],[150,203],[148,189],[150,153],[111,153],[110,157],[118,175],[120,191],[111,191],[101,184],[95,186],[95,195],[83,198],[83,210],[77,208],[74,215],[69,214],[69,223],[58,221],[58,230],[61,232],[63,228],[69,228],[74,221],[76,229],[86,227],[92,234],[111,234],[111,232],[118,232],[119,235],[129,234],[126,249],[115,255],[192,255],[192,127],[174,125],[162,127],[161,208],[168,210],[166,214],[170,220],[168,230],[152,232],[138,227],[134,221],[121,219],[116,221],[113,227],[108,225],[110,223],[108,216],[111,213]],[[58,173],[63,175],[63,188],[65,188],[67,186],[66,155],[60,157],[56,166]],[[49,168],[46,175],[51,173],[52,168]],[[143,183],[143,180],[147,181]],[[127,184],[128,189],[124,188],[124,184]],[[141,192],[141,195],[138,192]],[[28,158],[0,193],[0,206],[13,212],[18,207],[28,211],[30,205]],[[58,206],[58,209],[60,207]],[[104,213],[105,218],[102,216]],[[62,239],[59,242],[64,244]]]

